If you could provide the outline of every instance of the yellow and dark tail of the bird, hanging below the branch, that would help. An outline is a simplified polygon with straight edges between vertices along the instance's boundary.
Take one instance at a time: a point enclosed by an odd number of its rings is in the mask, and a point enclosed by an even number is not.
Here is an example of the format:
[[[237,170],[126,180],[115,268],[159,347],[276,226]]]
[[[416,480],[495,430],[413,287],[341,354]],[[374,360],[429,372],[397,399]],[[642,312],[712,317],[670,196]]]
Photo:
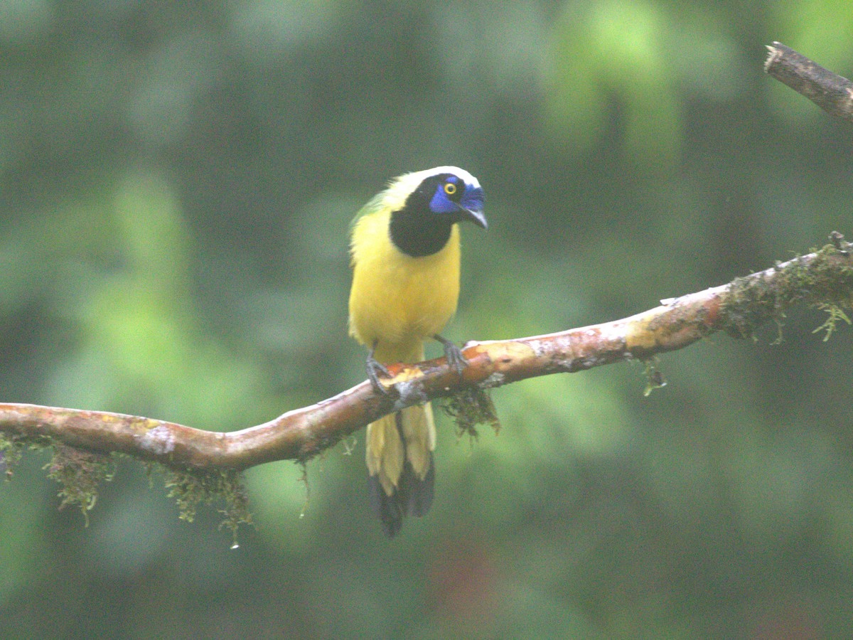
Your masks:
[[[380,362],[418,362],[423,346],[409,358],[377,357]],[[368,425],[367,463],[370,504],[392,537],[403,527],[403,516],[425,515],[432,504],[435,468],[435,424],[432,407],[407,407]]]

